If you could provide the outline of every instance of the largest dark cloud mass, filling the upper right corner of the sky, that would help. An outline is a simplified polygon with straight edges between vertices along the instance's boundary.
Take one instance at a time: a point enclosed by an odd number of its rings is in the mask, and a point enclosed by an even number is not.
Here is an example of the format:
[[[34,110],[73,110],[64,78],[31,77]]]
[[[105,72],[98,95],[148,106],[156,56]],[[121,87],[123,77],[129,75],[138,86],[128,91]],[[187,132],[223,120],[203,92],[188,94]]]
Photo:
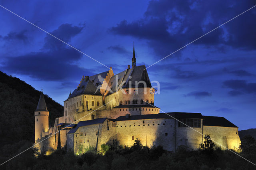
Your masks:
[[[113,34],[149,40],[149,46],[162,57],[254,5],[253,1],[152,0],[149,2],[143,18],[132,22],[123,20],[109,31]],[[256,49],[256,46],[253,45],[256,44],[256,34],[254,34],[256,22],[252,22],[255,17],[256,13],[250,10],[193,44],[206,46],[226,44],[235,48]],[[244,25],[247,27],[245,28]],[[219,46],[216,47],[219,48]]]

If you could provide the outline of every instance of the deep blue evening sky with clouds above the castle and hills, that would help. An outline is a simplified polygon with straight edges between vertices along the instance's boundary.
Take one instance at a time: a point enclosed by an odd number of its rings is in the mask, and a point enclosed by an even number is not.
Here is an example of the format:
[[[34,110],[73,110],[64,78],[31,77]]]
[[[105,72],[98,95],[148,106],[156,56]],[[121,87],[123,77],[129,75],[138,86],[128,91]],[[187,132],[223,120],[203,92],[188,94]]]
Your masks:
[[[248,10],[254,0],[14,1],[0,5],[112,66],[150,66]],[[256,8],[147,69],[164,112],[223,116],[256,128]],[[0,7],[0,70],[63,105],[82,75],[108,68]],[[156,84],[152,84],[155,86]],[[38,96],[39,97],[39,96]]]

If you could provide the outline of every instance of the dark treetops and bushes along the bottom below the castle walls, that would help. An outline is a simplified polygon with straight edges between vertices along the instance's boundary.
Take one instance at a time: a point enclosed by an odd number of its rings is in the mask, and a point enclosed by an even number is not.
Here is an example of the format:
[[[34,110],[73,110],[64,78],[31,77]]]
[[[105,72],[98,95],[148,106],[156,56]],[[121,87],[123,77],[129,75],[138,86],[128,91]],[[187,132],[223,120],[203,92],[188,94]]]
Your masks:
[[[256,152],[252,152],[254,143],[252,138],[242,139],[250,142],[244,143],[250,150],[242,151],[242,156],[251,162],[256,162]],[[255,140],[254,140],[255,141]],[[86,152],[76,155],[72,150],[58,149],[46,156],[40,154],[38,158],[34,156],[36,149],[28,150],[17,156],[10,162],[4,164],[1,170],[254,170],[255,166],[242,159],[240,156],[228,151],[216,148],[210,152],[199,150],[189,150],[185,146],[179,146],[176,152],[168,152],[162,146],[148,148],[142,146],[139,139],[134,145],[109,146],[102,145],[105,154]],[[28,147],[26,142],[24,147],[17,150],[20,152]],[[87,148],[89,149],[89,148]],[[93,149],[93,148],[91,148]]]

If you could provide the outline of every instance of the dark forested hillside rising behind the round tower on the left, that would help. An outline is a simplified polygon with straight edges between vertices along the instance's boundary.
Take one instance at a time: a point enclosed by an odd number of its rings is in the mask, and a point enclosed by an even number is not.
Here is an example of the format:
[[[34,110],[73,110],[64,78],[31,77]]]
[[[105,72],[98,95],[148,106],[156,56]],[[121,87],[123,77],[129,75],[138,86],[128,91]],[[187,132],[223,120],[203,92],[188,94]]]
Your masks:
[[[14,154],[24,145],[34,143],[34,111],[40,91],[19,78],[0,72],[0,160]],[[50,125],[63,116],[63,106],[44,96],[50,112]]]

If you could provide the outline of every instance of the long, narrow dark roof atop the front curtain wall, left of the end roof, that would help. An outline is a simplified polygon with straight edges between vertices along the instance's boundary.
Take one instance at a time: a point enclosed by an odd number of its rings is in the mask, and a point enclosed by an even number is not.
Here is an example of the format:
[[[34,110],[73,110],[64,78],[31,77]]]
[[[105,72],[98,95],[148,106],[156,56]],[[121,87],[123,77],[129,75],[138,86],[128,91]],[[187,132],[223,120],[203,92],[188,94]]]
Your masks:
[[[170,116],[168,116],[168,115]],[[126,118],[126,116],[119,116],[116,121],[124,120],[142,120],[142,119],[163,119],[163,118],[202,118],[201,113],[182,113],[182,112],[170,112],[170,113],[159,113],[159,114],[144,114],[144,115],[132,115]]]

